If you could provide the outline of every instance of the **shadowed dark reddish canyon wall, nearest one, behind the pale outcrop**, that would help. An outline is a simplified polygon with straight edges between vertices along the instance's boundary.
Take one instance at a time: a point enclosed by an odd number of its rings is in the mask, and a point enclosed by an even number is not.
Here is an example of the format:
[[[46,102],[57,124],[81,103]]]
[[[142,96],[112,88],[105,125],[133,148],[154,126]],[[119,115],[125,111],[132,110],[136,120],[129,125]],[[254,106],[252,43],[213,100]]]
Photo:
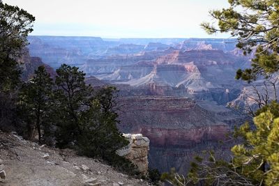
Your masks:
[[[225,141],[236,116],[229,109],[176,97],[126,97],[119,99],[119,128],[124,133],[141,133],[150,139],[149,165],[160,171],[172,167],[186,173],[195,155],[215,150],[216,155],[229,155],[233,144]],[[208,108],[209,107],[209,108]],[[227,123],[232,121],[232,123]]]

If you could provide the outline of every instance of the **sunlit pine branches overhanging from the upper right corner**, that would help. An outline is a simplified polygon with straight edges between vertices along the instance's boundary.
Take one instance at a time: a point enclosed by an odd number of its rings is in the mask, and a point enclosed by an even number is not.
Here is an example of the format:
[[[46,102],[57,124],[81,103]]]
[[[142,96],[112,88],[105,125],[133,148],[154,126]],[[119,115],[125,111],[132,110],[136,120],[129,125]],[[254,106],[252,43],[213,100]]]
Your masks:
[[[251,82],[259,76],[270,77],[279,70],[279,3],[276,0],[229,0],[230,7],[213,10],[210,23],[202,27],[208,33],[229,32],[238,38],[237,47],[247,54],[257,48],[252,68],[239,70],[236,79]]]

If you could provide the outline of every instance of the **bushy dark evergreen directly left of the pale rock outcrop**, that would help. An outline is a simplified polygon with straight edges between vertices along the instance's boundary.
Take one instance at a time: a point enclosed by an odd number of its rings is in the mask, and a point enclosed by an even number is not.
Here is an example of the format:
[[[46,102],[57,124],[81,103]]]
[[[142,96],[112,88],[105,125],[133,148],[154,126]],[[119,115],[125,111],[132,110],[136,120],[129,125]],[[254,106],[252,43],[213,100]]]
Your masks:
[[[128,145],[117,128],[118,114],[114,108],[113,86],[103,87],[90,100],[90,107],[82,113],[80,149],[91,157],[110,159],[115,151]]]

